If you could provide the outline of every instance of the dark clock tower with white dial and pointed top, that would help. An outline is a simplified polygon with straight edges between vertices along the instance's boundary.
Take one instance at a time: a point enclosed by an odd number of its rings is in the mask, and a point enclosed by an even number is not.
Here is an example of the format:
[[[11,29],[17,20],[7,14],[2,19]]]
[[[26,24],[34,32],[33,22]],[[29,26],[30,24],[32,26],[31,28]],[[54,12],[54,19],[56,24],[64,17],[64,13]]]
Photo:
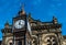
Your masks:
[[[19,15],[13,18],[13,44],[26,45],[30,38],[28,31],[28,20],[24,10],[19,11]]]

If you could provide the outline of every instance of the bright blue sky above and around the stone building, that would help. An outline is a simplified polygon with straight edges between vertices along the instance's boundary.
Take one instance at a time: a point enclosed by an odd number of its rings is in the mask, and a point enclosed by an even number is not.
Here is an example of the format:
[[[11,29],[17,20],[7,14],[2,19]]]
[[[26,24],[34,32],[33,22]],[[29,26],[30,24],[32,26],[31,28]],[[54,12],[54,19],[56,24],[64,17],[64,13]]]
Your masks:
[[[12,18],[18,15],[23,3],[25,12],[36,20],[48,22],[56,16],[62,23],[62,34],[66,35],[66,0],[0,0],[0,40],[4,23],[9,21],[12,24]]]

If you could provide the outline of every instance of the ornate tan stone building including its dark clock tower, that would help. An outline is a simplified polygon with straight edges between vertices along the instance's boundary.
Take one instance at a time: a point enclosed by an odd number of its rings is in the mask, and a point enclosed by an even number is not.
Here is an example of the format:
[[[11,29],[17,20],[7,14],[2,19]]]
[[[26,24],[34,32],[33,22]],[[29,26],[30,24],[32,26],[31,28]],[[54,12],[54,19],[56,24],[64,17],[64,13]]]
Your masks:
[[[62,24],[55,16],[50,22],[42,22],[21,10],[12,22],[11,25],[7,22],[2,29],[2,45],[66,45]]]

